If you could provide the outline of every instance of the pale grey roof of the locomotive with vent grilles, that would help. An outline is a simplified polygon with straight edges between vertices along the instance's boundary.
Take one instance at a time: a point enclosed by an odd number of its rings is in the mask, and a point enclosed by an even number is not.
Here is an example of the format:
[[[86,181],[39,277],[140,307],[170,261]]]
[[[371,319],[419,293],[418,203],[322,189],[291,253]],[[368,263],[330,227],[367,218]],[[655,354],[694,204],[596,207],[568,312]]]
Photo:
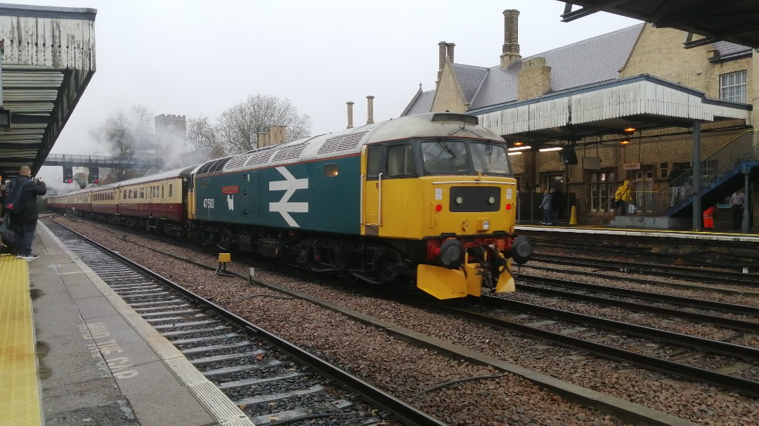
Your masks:
[[[260,169],[280,164],[326,159],[361,152],[367,144],[411,137],[475,137],[504,140],[477,124],[473,115],[451,112],[427,112],[349,128],[330,134],[293,140],[285,144],[262,147],[246,153],[203,163],[194,173],[203,175],[239,169]]]

